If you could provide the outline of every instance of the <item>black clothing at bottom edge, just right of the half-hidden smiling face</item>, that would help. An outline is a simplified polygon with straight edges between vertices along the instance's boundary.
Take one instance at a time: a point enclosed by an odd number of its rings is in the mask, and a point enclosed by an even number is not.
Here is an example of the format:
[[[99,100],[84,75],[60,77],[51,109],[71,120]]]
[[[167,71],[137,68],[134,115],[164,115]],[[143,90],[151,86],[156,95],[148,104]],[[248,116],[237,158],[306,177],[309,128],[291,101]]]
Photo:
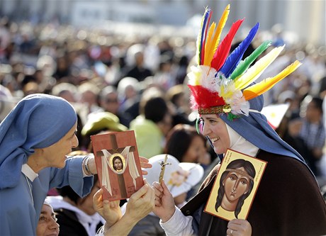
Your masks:
[[[76,213],[72,210],[59,208],[55,210],[57,223],[60,225],[59,236],[89,236],[79,220]],[[102,226],[102,223],[96,226],[96,232]],[[94,232],[94,235],[95,233]]]

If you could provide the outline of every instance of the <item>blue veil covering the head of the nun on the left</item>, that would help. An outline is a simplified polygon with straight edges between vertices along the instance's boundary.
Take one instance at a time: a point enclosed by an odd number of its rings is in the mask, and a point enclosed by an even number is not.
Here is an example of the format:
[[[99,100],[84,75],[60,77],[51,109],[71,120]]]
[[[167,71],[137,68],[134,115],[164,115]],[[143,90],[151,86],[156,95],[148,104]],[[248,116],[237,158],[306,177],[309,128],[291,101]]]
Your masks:
[[[34,149],[55,144],[76,122],[74,108],[57,96],[32,94],[22,99],[0,123],[0,189],[16,186]]]

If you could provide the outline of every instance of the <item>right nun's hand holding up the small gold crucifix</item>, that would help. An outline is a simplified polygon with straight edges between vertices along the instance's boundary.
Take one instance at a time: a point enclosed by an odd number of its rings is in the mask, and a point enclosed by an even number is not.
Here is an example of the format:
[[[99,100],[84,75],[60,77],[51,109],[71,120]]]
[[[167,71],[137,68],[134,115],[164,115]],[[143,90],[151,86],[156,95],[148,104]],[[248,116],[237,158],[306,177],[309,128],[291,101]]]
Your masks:
[[[173,196],[167,188],[164,180],[162,181],[162,184],[154,182],[153,188],[155,191],[155,208],[153,212],[162,219],[163,223],[167,222],[167,220],[172,218],[175,211]]]

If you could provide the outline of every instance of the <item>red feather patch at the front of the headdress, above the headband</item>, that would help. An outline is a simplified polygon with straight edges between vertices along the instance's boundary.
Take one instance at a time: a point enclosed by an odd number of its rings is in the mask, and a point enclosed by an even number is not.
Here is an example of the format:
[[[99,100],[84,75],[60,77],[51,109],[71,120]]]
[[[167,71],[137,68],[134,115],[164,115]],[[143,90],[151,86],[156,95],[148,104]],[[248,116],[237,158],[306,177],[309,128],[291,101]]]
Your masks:
[[[209,91],[203,86],[188,84],[191,90],[191,106],[192,108],[209,108],[212,106],[223,106],[225,101],[222,97],[218,96],[217,92]]]

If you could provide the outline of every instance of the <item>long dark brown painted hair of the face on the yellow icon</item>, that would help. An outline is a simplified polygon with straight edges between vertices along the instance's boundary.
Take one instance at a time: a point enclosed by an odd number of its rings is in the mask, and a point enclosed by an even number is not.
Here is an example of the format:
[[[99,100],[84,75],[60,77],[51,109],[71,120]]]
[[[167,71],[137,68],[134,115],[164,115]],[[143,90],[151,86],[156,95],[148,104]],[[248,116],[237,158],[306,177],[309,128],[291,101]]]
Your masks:
[[[256,175],[256,171],[254,169],[254,166],[252,165],[251,162],[246,161],[245,159],[235,159],[234,161],[230,162],[226,169],[239,169],[243,167],[245,169],[245,172],[249,174],[249,176],[254,176]],[[218,196],[216,198],[216,203],[215,203],[215,210],[218,211],[218,208],[220,207],[220,204],[222,203],[223,196],[225,194],[225,189],[223,186],[223,181],[226,178],[227,174],[229,174],[230,171],[225,170],[223,172],[222,176],[220,177],[220,187],[218,188]],[[248,191],[247,193],[243,194],[240,198],[239,201],[237,202],[237,206],[235,208],[235,218],[237,218],[237,215],[239,215],[242,205],[245,201],[245,199],[250,195],[252,192],[252,188],[254,186],[254,181],[252,179],[249,179],[249,186],[248,186]]]

